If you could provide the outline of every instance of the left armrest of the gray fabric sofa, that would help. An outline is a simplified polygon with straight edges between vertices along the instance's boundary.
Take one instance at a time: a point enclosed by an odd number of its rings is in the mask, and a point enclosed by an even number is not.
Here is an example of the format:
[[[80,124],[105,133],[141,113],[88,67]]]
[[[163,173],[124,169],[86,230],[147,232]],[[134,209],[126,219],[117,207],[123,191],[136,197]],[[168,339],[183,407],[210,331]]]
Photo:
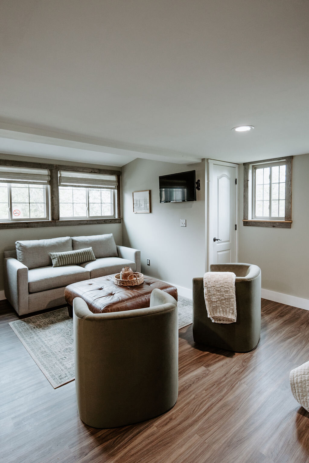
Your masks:
[[[4,293],[19,315],[29,313],[28,267],[13,257],[4,259]]]

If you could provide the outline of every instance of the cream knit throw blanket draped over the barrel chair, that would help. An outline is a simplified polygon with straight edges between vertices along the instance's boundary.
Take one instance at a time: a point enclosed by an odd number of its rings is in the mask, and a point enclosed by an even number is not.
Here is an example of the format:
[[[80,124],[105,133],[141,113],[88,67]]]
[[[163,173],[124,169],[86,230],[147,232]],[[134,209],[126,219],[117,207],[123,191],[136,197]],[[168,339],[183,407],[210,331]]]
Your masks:
[[[204,275],[206,309],[213,323],[236,321],[235,277],[233,272],[206,272]]]

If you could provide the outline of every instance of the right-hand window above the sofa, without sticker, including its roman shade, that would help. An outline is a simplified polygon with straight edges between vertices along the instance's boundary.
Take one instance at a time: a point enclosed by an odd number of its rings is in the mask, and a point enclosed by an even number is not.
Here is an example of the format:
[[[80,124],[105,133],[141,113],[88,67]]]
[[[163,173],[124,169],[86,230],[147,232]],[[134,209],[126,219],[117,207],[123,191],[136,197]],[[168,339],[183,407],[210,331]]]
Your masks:
[[[60,171],[60,219],[115,217],[115,175]]]

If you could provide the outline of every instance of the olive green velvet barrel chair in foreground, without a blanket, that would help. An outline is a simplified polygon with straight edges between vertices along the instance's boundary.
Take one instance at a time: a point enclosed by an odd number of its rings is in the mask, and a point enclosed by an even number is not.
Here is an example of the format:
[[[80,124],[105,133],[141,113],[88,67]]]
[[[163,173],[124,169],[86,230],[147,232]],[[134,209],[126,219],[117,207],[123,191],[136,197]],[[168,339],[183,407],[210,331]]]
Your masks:
[[[92,313],[73,301],[77,408],[84,423],[112,428],[166,412],[178,396],[177,301],[156,288],[150,306]]]

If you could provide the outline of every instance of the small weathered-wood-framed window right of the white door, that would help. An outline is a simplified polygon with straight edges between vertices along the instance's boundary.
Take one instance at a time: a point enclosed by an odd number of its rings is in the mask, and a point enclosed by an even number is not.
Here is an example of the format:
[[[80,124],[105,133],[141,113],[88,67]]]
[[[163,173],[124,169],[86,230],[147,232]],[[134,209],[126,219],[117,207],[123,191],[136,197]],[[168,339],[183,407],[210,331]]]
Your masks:
[[[244,164],[244,225],[290,228],[292,157]]]

